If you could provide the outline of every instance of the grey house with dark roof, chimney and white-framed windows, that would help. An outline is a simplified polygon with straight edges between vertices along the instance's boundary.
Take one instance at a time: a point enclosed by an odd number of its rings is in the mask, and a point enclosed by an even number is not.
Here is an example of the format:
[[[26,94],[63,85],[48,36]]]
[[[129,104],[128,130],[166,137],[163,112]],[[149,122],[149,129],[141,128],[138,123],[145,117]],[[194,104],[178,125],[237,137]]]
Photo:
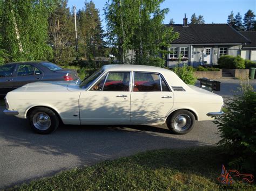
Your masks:
[[[171,42],[167,55],[167,67],[177,63],[187,63],[193,67],[200,65],[217,65],[222,55],[237,56],[242,47],[250,44],[250,40],[228,24],[168,24],[179,33],[179,38]]]

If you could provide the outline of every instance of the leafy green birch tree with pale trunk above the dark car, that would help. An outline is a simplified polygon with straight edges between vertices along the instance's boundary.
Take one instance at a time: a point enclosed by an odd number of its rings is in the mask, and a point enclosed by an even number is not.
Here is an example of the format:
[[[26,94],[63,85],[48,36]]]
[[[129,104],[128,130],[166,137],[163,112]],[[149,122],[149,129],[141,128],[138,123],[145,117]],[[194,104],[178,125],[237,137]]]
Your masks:
[[[49,1],[3,2],[2,45],[11,61],[49,60],[52,49],[48,41]]]

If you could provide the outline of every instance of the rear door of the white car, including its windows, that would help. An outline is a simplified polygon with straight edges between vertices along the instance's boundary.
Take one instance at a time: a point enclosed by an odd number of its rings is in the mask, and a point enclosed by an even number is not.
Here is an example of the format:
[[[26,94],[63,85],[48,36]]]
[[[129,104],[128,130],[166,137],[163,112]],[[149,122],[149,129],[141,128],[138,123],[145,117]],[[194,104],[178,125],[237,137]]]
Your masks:
[[[131,123],[164,122],[173,107],[173,93],[158,73],[134,72]]]

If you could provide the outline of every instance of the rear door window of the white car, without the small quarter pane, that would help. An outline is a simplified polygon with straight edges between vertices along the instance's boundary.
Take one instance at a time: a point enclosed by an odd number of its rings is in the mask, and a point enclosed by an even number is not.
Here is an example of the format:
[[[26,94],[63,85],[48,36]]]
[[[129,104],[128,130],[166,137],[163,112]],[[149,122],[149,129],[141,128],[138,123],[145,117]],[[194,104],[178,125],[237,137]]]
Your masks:
[[[159,74],[135,72],[133,91],[161,91]]]

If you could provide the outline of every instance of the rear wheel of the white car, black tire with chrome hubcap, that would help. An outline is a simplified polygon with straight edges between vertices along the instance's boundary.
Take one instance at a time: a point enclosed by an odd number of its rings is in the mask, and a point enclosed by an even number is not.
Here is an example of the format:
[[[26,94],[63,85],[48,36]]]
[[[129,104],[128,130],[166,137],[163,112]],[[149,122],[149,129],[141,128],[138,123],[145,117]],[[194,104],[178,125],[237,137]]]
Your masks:
[[[174,111],[167,118],[168,128],[172,133],[177,135],[184,135],[190,132],[193,129],[195,122],[196,118],[194,117],[194,114],[184,109]]]

